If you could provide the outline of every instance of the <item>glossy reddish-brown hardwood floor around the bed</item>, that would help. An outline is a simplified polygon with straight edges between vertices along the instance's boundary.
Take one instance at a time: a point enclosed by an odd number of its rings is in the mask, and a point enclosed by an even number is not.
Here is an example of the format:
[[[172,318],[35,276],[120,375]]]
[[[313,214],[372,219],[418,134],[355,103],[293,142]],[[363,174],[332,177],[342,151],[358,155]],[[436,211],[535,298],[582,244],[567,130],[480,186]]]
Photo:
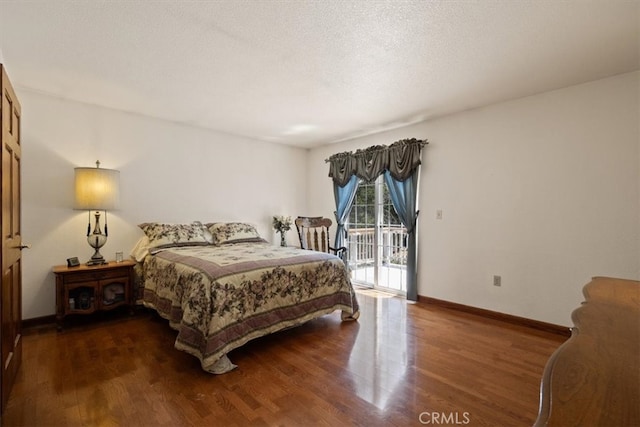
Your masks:
[[[542,371],[565,337],[398,298],[359,301],[358,322],[335,312],[255,340],[218,376],[145,311],[27,330],[3,425],[533,424]]]

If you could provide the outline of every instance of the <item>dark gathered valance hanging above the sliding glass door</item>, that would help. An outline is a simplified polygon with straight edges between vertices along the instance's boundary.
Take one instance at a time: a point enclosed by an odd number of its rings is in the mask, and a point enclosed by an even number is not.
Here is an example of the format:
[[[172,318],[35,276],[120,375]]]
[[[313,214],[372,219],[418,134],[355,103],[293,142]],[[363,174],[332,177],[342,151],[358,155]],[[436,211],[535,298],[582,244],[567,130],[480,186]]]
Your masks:
[[[329,177],[340,187],[344,187],[352,175],[369,182],[386,170],[394,179],[405,181],[420,165],[420,152],[427,144],[426,139],[401,139],[389,146],[374,145],[355,153],[334,154],[325,161],[329,163]]]

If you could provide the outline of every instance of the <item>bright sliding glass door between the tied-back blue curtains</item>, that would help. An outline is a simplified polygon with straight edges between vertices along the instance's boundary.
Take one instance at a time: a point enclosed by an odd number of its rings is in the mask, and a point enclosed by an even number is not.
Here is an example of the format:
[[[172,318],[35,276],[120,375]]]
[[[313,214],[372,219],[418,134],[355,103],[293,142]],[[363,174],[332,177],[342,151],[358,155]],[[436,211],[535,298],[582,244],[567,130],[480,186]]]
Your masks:
[[[349,214],[349,266],[358,284],[406,293],[407,234],[382,176],[360,183]]]

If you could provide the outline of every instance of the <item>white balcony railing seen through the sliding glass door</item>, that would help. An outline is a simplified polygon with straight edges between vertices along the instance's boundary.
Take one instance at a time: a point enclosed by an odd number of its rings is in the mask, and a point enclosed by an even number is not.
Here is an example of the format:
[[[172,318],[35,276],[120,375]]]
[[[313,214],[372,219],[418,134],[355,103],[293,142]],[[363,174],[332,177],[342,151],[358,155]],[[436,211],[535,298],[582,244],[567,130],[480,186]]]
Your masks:
[[[407,231],[402,225],[380,227],[380,248],[375,245],[375,227],[349,228],[349,263],[355,268],[372,265],[380,250],[382,265],[407,264]]]

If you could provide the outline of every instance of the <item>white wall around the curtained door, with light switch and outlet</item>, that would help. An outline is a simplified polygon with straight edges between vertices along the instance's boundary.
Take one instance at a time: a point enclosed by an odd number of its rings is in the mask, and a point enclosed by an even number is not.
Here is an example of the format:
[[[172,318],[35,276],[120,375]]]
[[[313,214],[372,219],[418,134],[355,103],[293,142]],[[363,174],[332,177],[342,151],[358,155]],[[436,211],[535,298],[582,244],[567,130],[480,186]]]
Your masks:
[[[427,138],[418,294],[571,325],[592,276],[640,279],[639,82],[625,74],[313,149],[309,210],[333,217],[331,154]]]

